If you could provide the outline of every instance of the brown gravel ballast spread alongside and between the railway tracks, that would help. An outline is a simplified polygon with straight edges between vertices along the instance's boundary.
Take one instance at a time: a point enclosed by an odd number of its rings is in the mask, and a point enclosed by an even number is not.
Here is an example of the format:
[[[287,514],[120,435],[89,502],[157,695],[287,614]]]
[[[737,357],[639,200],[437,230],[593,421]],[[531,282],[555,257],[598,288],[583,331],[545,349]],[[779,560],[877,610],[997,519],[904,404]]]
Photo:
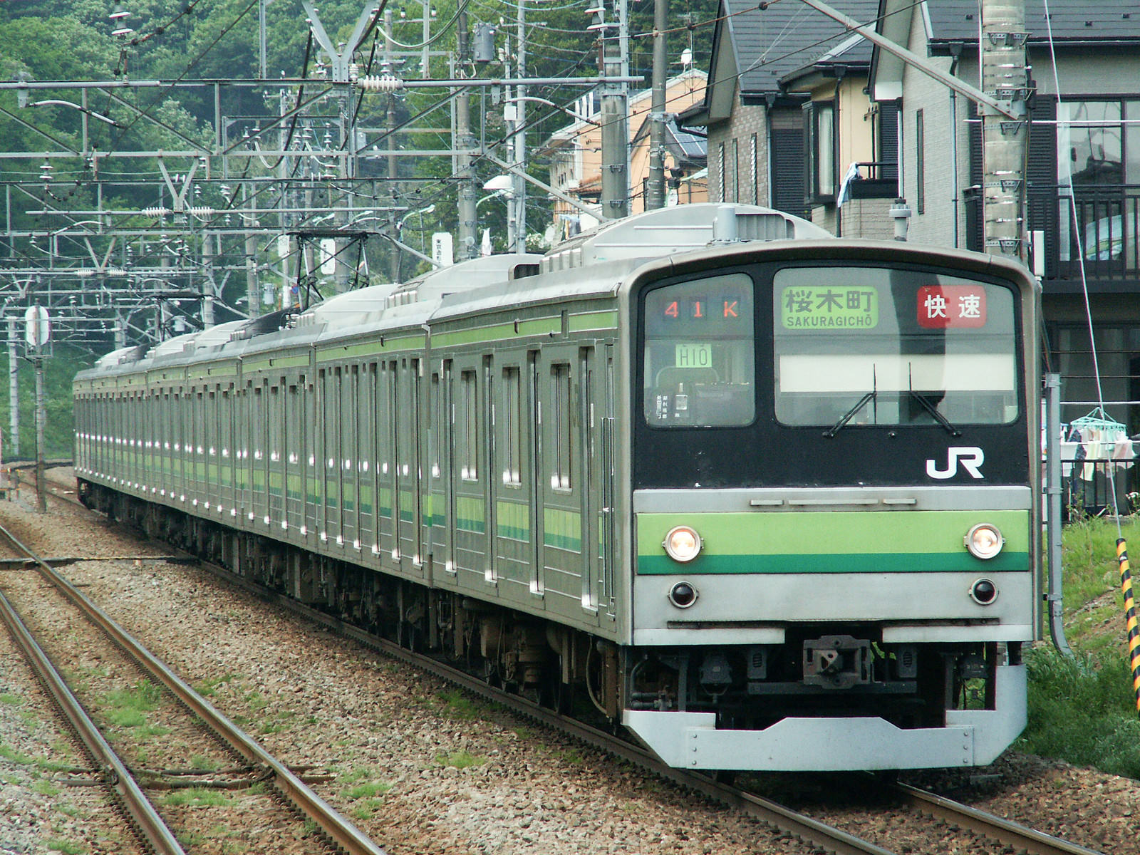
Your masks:
[[[41,554],[166,553],[57,502],[46,516],[0,503],[0,521]],[[812,852],[569,738],[472,701],[434,677],[277,613],[203,569],[87,561],[63,573],[283,762],[332,772],[335,777],[315,789],[393,855]],[[9,650],[10,641],[2,644],[0,691],[25,700],[0,703],[0,743],[51,756],[58,725],[42,700],[33,700],[34,687],[21,684],[26,667]],[[67,755],[63,762],[78,759]],[[68,815],[36,793],[28,766],[0,758],[0,855],[48,852],[44,839],[30,836],[30,825],[59,828],[68,839],[82,839],[83,852],[122,850],[109,838],[81,837],[97,808]],[[971,788],[964,773],[928,779],[952,798],[1094,849],[1140,848],[1135,781],[1012,752],[984,772],[984,789]],[[30,823],[31,816],[36,819]],[[850,830],[896,852],[925,850],[911,839],[893,838],[886,823]]]

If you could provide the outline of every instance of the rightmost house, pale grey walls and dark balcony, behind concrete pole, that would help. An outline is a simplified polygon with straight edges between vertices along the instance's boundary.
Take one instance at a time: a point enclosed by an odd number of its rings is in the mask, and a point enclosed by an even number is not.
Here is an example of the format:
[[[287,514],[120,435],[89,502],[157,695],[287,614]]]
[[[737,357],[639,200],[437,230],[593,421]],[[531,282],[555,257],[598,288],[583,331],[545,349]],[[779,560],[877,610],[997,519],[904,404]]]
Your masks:
[[[1131,0],[1026,0],[1029,100],[1027,228],[1042,275],[1047,369],[1061,374],[1062,421],[1098,401],[1140,400],[1140,9]],[[977,84],[976,0],[881,0],[878,31]],[[899,114],[899,188],[910,239],[983,249],[982,144],[961,95],[876,50],[871,95]],[[1083,261],[1083,263],[1082,263]],[[1130,433],[1140,406],[1108,413]]]

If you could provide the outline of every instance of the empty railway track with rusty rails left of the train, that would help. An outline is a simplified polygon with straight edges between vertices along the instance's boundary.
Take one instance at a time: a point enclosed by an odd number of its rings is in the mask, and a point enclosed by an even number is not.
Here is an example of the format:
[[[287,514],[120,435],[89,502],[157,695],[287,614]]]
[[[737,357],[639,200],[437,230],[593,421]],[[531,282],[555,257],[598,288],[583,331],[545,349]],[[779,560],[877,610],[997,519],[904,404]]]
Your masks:
[[[34,605],[33,600],[42,603],[41,591],[30,592],[27,585],[7,585],[7,595],[0,593],[0,616],[7,625],[17,645],[24,652],[36,678],[47,689],[50,697],[62,710],[68,725],[76,734],[76,738],[89,754],[93,768],[97,769],[98,781],[114,790],[117,803],[123,812],[130,817],[133,826],[142,841],[144,847],[157,855],[181,855],[185,852],[179,841],[176,830],[172,830],[169,820],[155,807],[147,790],[170,789],[181,785],[221,785],[227,788],[252,788],[253,784],[264,782],[272,788],[276,793],[274,800],[283,801],[279,805],[279,813],[283,817],[291,817],[298,825],[304,824],[304,829],[298,833],[298,839],[309,841],[311,846],[315,840],[309,831],[317,829],[319,837],[316,841],[321,845],[349,853],[349,855],[383,855],[383,850],[377,847],[366,836],[361,834],[348,820],[333,811],[323,799],[320,799],[309,787],[290,769],[285,764],[269,755],[258,742],[250,738],[242,730],[236,727],[229,719],[215,710],[202,695],[187,685],[180,677],[171,671],[165,665],[152,656],[138,642],[127,635],[98,606],[91,603],[78,588],[72,586],[66,579],[60,577],[46,562],[40,560],[31,549],[22,544],[11,532],[0,526],[0,540],[10,546],[13,551],[26,555],[35,562],[39,577],[46,580],[49,586],[57,592],[57,595],[66,598],[72,605],[78,608],[83,616],[107,638],[119,651],[122,652],[124,661],[136,666],[139,670],[153,681],[154,685],[164,686],[171,695],[178,700],[185,712],[192,714],[193,723],[190,731],[198,732],[199,742],[186,742],[180,744],[178,750],[186,750],[186,746],[198,744],[201,749],[201,738],[206,736],[210,742],[220,741],[231,755],[237,755],[242,759],[242,766],[237,769],[219,771],[211,767],[214,780],[204,783],[201,772],[195,769],[172,769],[165,773],[149,773],[144,780],[144,775],[125,763],[121,754],[116,751],[111,740],[104,734],[88,715],[84,706],[80,702],[75,692],[68,686],[59,670],[52,665],[52,658],[58,659],[60,654],[54,651],[55,656],[49,657],[43,646],[33,636],[25,621],[17,613],[13,605],[13,600],[23,600],[28,606]],[[16,596],[11,595],[13,588],[25,588]],[[31,609],[26,609],[28,611]],[[71,626],[75,626],[72,624]],[[88,646],[83,656],[95,656],[100,660],[100,667],[114,654],[101,656],[92,653],[90,640],[84,637],[82,630],[68,632],[73,643]],[[96,645],[98,642],[96,642]],[[207,731],[202,734],[202,725]],[[186,740],[185,732],[179,733],[180,740]],[[217,754],[217,748],[214,749]],[[203,755],[192,755],[203,756]],[[234,773],[237,773],[236,776]],[[218,777],[222,780],[219,782]],[[172,783],[171,777],[181,777],[182,781]],[[165,779],[165,780],[163,780]],[[188,784],[186,782],[189,782]],[[254,799],[251,807],[263,816],[267,806],[263,799]],[[241,828],[241,823],[252,826],[253,822],[249,815],[243,819],[242,813],[236,813],[233,822]],[[275,849],[277,850],[277,849]]]

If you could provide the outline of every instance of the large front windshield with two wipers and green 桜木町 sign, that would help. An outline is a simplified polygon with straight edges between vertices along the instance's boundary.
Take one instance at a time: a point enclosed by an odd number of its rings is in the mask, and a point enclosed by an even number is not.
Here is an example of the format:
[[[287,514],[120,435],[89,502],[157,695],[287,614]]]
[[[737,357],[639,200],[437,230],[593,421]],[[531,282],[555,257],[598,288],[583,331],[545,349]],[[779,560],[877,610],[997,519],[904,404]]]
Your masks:
[[[795,267],[776,272],[774,291],[781,423],[1017,418],[1010,288],[922,270]]]

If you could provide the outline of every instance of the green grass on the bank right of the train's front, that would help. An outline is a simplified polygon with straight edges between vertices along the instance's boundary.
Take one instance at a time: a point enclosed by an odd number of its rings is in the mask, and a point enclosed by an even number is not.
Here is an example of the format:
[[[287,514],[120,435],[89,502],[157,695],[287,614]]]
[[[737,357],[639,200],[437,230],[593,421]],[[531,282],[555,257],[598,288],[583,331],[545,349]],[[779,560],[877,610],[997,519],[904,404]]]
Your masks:
[[[1140,521],[1122,521],[1137,545]],[[1052,645],[1026,653],[1028,724],[1017,747],[1109,774],[1140,779],[1140,718],[1124,627],[1116,523],[1081,520],[1062,532],[1065,637],[1074,657]],[[1140,562],[1138,562],[1140,565]],[[1140,594],[1140,579],[1133,575]]]

